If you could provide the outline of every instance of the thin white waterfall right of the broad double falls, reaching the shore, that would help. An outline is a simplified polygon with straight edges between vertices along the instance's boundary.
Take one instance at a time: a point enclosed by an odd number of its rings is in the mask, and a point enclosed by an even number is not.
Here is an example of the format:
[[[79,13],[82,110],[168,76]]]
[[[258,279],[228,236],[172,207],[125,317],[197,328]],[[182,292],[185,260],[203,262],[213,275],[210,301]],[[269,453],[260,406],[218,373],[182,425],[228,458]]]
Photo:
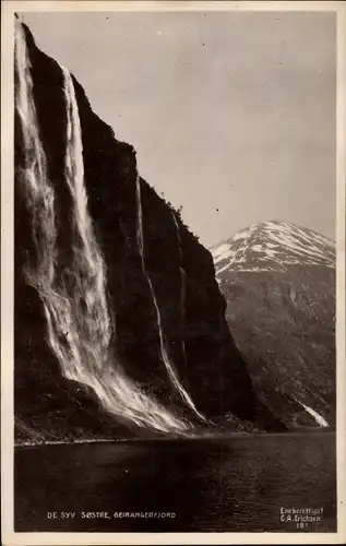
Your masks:
[[[138,175],[136,177],[136,211],[138,211],[138,228],[136,228],[136,237],[138,237],[138,246],[141,254],[141,260],[142,260],[142,269],[143,273],[146,277],[147,284],[151,289],[155,311],[156,311],[156,321],[157,321],[157,328],[158,328],[158,336],[159,336],[159,347],[160,347],[160,354],[162,354],[162,360],[166,367],[166,370],[168,372],[168,377],[176,389],[176,391],[179,393],[183,402],[192,410],[192,412],[203,422],[205,422],[205,417],[196,410],[191,396],[189,393],[186,391],[183,385],[180,382],[180,379],[178,377],[178,372],[175,369],[175,365],[171,360],[171,357],[169,355],[169,348],[166,340],[166,335],[163,329],[163,320],[162,320],[162,314],[158,306],[158,301],[156,298],[154,285],[152,282],[152,278],[146,270],[145,266],[145,258],[144,258],[144,234],[143,234],[143,209],[142,209],[142,195],[141,195],[141,180]]]

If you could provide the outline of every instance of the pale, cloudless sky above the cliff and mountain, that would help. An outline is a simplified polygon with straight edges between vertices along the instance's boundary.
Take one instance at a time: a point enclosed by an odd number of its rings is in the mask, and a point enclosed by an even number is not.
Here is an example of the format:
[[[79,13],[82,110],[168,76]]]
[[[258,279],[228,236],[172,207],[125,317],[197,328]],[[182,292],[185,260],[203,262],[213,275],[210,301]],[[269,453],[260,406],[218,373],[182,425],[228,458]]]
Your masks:
[[[334,239],[335,13],[22,19],[205,246],[266,219]]]

